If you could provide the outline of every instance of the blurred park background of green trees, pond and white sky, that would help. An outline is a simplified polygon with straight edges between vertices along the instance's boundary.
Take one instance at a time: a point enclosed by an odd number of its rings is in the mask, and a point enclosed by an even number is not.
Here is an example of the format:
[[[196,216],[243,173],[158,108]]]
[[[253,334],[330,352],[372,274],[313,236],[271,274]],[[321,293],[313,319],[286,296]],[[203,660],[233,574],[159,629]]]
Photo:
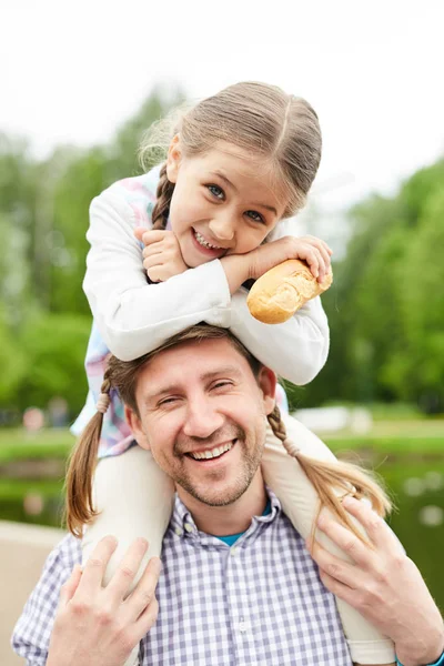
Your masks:
[[[91,199],[140,173],[141,133],[172,105],[266,81],[319,113],[323,161],[299,222],[334,250],[330,357],[287,386],[291,408],[386,481],[391,523],[444,604],[443,21],[428,0],[3,8],[1,519],[61,525]]]

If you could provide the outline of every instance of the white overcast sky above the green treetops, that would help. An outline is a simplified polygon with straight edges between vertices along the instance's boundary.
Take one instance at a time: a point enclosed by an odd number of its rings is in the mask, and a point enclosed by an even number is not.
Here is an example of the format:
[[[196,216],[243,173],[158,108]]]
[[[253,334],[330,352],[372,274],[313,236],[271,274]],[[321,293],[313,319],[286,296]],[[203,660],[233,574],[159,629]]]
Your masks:
[[[346,205],[444,153],[443,27],[442,0],[9,0],[0,130],[44,155],[109,140],[158,82],[266,81],[317,111],[317,196]]]

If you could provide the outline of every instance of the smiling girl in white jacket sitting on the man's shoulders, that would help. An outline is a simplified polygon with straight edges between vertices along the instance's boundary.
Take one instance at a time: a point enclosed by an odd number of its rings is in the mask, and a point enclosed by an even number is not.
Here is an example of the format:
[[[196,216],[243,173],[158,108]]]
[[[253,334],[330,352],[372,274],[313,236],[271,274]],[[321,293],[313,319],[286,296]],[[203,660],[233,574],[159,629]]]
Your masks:
[[[279,88],[239,83],[179,118],[168,144],[160,170],[113,184],[90,210],[83,283],[94,316],[87,353],[90,393],[74,432],[97,411],[99,418],[85,428],[71,460],[68,515],[78,536],[79,525],[88,524],[84,558],[102,536],[118,536],[109,575],[137,536],[149,541],[147,558],[160,554],[173,502],[171,481],[134,445],[115,390],[108,406],[109,352],[131,361],[205,321],[229,327],[260,362],[305,384],[329,350],[320,299],[289,322],[268,326],[250,315],[242,286],[286,259],[305,260],[320,281],[330,268],[327,245],[294,238],[285,220],[304,204],[317,171],[321,132],[313,109]],[[142,162],[152,145],[149,139],[142,147]],[[301,431],[294,434],[301,437]],[[331,458],[314,436],[305,444],[297,441],[309,455]],[[296,529],[309,535],[319,508],[311,482],[322,488],[271,428],[263,471]],[[78,497],[88,497],[87,505]],[[339,606],[353,659],[393,662],[390,642],[353,609]]]

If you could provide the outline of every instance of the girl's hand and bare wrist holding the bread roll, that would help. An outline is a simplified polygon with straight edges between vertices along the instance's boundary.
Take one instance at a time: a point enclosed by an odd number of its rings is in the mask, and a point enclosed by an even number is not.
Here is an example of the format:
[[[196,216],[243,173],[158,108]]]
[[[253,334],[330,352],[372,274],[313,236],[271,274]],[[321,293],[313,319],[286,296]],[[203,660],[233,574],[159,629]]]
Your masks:
[[[245,258],[249,258],[250,261],[249,278],[254,280],[287,259],[301,259],[306,261],[313,276],[322,283],[330,272],[332,254],[333,251],[324,241],[307,235],[302,238],[284,236],[278,241],[264,243],[246,254]]]

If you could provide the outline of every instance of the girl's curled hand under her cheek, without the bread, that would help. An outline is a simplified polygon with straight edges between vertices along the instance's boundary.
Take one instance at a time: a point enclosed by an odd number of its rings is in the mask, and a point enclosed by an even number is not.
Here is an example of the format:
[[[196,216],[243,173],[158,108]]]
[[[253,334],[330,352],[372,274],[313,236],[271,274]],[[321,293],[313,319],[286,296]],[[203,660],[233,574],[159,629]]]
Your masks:
[[[172,231],[134,229],[135,238],[144,244],[143,268],[152,282],[165,282],[186,271],[178,239]]]

